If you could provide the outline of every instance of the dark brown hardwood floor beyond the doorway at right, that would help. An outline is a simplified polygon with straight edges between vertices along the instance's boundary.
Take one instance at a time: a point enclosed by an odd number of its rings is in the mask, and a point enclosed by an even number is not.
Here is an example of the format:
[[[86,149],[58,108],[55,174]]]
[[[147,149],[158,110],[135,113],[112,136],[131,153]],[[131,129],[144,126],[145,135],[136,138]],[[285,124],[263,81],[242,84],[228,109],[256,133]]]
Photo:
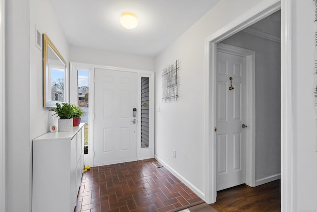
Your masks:
[[[190,212],[280,212],[280,180],[257,187],[239,185],[217,193],[217,202],[190,207]]]

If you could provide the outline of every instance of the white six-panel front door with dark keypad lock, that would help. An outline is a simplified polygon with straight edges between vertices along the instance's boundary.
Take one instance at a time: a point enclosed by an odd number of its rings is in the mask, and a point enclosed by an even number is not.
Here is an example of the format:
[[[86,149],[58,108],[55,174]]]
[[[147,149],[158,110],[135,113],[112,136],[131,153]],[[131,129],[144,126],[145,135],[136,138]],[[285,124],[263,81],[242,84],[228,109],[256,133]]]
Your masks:
[[[137,160],[137,73],[95,69],[94,166]]]

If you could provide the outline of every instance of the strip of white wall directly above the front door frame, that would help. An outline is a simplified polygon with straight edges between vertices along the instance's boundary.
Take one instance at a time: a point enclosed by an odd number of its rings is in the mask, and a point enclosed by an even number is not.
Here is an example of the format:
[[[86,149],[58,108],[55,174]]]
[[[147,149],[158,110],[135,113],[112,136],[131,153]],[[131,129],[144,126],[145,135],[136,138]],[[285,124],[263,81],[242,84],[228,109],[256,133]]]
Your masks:
[[[112,66],[127,69],[154,71],[154,58],[70,46],[69,61],[93,65]]]

